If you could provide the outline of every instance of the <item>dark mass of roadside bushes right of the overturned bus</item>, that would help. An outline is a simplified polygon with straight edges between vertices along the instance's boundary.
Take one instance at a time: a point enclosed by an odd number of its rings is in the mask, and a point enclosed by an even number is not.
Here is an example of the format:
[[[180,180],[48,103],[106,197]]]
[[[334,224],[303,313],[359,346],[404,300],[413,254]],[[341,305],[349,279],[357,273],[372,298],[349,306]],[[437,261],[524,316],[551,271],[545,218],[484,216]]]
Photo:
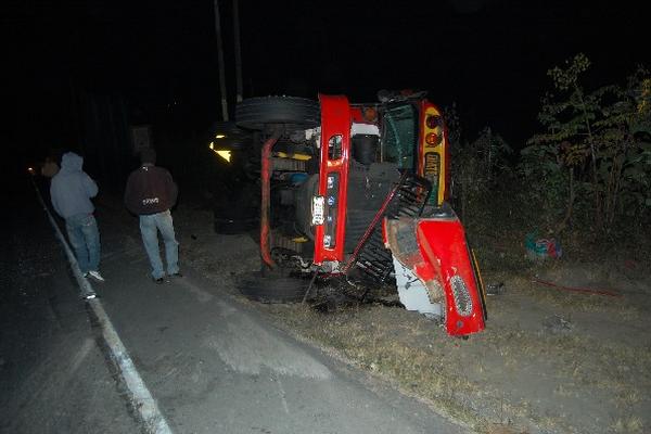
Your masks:
[[[639,67],[588,91],[589,67],[577,54],[548,71],[542,129],[515,155],[488,127],[469,140],[456,106],[445,110],[451,202],[482,261],[522,265],[529,232],[557,238],[575,258],[651,254],[651,76]]]

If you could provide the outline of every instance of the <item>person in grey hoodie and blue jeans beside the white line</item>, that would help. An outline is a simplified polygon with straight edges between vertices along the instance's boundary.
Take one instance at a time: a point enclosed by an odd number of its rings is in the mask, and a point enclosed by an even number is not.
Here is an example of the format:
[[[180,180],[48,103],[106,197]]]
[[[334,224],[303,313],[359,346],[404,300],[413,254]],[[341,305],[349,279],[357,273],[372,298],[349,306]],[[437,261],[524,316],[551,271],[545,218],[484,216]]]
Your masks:
[[[100,231],[90,201],[98,184],[84,170],[84,158],[74,152],[63,154],[61,169],[52,178],[50,197],[56,214],[65,219],[68,240],[84,277],[104,281],[100,275]]]

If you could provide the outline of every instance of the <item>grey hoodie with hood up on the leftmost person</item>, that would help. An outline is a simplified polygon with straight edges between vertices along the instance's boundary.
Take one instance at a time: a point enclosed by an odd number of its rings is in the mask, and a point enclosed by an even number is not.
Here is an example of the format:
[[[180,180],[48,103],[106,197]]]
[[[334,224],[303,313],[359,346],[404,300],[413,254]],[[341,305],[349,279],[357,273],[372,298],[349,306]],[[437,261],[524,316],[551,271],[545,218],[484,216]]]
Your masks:
[[[50,184],[52,206],[63,218],[90,214],[94,210],[90,197],[98,194],[98,184],[81,170],[82,166],[82,157],[74,152],[67,152],[61,158],[61,170],[52,178]]]

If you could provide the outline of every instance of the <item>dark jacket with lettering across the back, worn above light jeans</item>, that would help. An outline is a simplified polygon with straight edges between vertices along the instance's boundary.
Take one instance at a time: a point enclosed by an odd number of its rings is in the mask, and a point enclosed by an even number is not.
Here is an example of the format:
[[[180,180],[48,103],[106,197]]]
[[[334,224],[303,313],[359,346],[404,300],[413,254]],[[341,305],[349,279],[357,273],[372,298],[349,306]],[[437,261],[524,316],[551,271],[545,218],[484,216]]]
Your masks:
[[[162,213],[176,204],[177,194],[177,186],[167,169],[144,164],[129,175],[125,205],[138,215]]]

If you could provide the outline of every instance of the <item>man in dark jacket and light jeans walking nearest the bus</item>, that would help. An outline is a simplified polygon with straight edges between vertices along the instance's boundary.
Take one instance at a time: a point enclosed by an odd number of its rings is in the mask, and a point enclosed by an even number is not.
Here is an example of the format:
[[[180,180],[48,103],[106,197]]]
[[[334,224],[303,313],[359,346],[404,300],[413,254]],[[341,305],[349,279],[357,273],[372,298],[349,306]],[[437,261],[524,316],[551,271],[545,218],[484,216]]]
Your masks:
[[[174,234],[171,208],[176,204],[178,189],[167,169],[155,166],[156,152],[145,149],[140,153],[140,168],[133,170],[127,180],[125,204],[139,216],[142,243],[152,266],[152,278],[163,283],[165,270],[158,247],[158,231],[165,242],[167,275],[180,277],[179,243]]]

